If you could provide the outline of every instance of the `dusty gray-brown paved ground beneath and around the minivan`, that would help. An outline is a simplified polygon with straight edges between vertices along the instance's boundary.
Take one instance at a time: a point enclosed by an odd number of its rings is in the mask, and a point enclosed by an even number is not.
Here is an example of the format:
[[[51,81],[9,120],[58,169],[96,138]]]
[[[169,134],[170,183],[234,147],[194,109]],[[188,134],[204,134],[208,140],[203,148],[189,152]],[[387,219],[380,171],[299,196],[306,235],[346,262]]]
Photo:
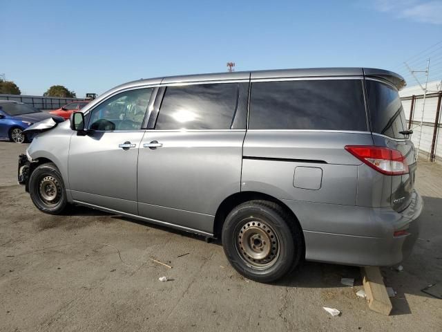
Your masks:
[[[383,268],[397,291],[385,317],[356,297],[358,268],[305,262],[258,284],[220,243],[86,208],[43,214],[16,182],[25,149],[0,142],[0,331],[441,331],[442,300],[421,292],[442,283],[441,166],[419,165],[422,231],[403,272]]]

